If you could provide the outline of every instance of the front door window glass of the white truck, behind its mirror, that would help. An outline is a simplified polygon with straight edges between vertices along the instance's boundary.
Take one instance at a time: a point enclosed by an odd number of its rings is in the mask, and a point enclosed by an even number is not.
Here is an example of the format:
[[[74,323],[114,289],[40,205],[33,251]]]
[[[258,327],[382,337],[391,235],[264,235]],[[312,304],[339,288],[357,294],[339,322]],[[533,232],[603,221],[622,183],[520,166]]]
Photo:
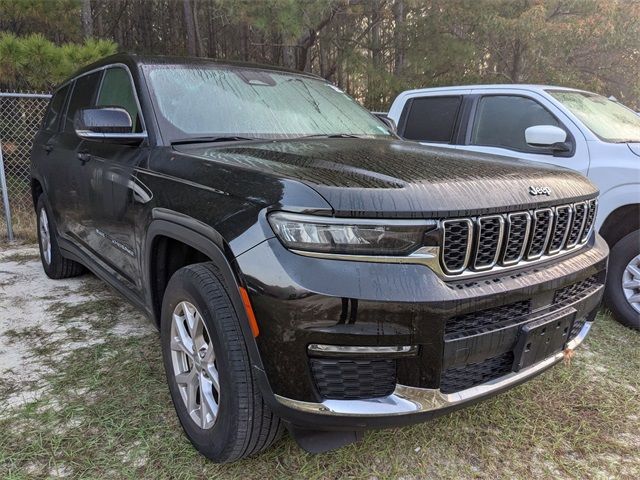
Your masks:
[[[554,125],[564,129],[545,107],[530,98],[515,95],[482,97],[476,110],[471,144],[543,153],[529,146],[525,140],[525,130],[535,125]]]

